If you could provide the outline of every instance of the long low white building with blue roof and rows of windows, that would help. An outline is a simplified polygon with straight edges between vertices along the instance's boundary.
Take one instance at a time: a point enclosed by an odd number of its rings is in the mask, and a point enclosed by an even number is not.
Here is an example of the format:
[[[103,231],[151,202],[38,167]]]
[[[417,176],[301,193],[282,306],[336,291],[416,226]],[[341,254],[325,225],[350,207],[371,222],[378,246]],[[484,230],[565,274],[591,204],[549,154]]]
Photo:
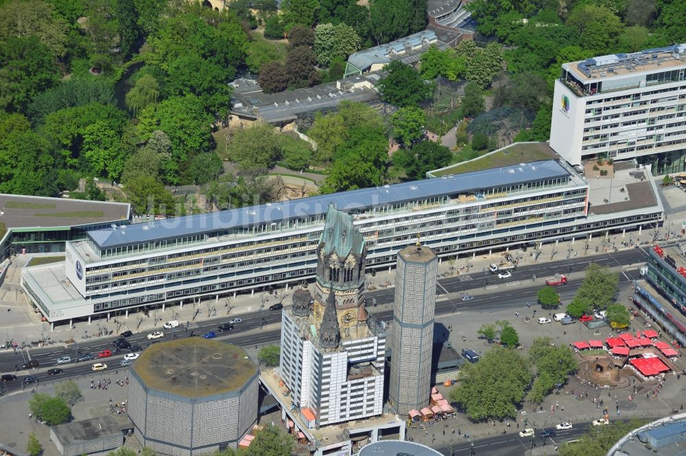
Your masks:
[[[543,160],[117,226],[67,242],[64,264],[26,268],[22,284],[50,322],[218,299],[314,277],[330,204],[353,215],[370,273],[392,267],[418,233],[439,257],[464,257],[655,223],[662,205],[646,202],[654,183],[641,185],[631,201],[594,209],[587,181],[561,161]]]

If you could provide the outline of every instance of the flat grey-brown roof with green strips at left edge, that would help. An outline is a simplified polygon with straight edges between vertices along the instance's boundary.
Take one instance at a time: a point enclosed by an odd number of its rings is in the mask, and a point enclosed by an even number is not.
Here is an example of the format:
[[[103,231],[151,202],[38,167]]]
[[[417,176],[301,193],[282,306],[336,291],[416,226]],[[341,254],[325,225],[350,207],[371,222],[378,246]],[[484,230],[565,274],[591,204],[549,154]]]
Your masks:
[[[117,222],[128,220],[129,210],[125,203],[0,194],[0,225],[8,229]]]

